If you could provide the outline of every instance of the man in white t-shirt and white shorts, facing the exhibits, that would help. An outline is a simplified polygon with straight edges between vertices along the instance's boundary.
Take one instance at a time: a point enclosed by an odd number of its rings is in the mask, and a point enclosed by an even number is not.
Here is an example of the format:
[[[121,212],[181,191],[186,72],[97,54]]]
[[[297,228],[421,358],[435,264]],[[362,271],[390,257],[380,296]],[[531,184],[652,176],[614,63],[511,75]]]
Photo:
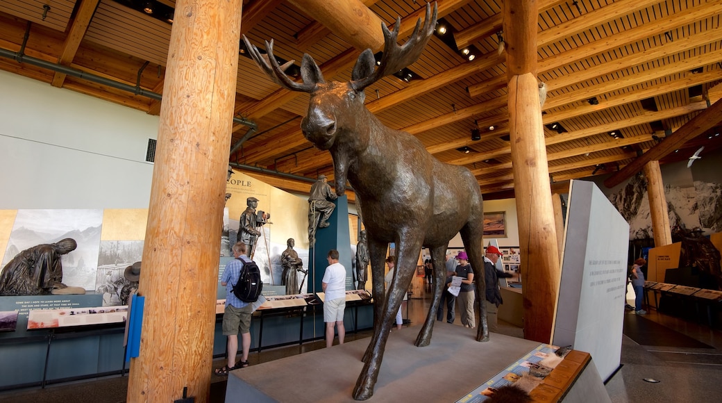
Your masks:
[[[326,347],[334,344],[334,324],[339,332],[339,345],[344,344],[344,311],[346,310],[346,268],[339,263],[339,251],[331,249],[326,256],[329,266],[323,273],[321,288],[326,294],[323,302],[323,321],[326,322]]]

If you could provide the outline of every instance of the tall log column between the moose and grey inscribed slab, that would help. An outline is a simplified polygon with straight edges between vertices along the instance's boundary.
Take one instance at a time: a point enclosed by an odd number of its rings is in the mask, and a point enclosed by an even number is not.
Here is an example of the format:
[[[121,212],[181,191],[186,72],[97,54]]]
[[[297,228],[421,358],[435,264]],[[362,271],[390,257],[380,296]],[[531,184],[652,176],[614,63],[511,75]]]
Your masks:
[[[536,79],[536,0],[504,3],[511,158],[521,248],[524,338],[550,342],[560,284],[557,229]]]

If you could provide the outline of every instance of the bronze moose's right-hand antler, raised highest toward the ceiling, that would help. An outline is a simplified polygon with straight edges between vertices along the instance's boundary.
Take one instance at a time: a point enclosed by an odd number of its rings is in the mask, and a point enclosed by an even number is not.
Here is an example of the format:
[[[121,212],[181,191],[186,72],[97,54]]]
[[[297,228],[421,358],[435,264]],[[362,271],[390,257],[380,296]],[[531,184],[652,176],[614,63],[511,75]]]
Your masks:
[[[434,33],[436,28],[436,16],[436,3],[434,3],[433,15],[431,13],[431,4],[427,3],[424,27],[419,29],[421,26],[421,19],[419,18],[411,37],[406,41],[406,43],[404,43],[404,45],[401,46],[397,43],[399,38],[399,27],[401,27],[401,17],[396,19],[396,24],[393,25],[393,31],[391,32],[388,30],[388,27],[386,27],[386,24],[381,24],[384,44],[383,56],[381,56],[378,69],[376,69],[372,74],[369,74],[367,77],[362,77],[350,82],[354,90],[363,90],[365,87],[368,87],[370,84],[378,81],[381,77],[396,73],[396,71],[414,63],[414,61],[421,56],[426,43]]]

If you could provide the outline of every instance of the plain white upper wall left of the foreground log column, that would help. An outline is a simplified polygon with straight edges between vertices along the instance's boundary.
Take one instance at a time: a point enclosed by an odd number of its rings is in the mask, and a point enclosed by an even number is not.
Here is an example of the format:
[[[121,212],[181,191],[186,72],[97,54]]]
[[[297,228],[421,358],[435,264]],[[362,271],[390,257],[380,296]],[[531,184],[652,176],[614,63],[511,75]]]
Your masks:
[[[0,209],[147,208],[158,121],[0,71]]]

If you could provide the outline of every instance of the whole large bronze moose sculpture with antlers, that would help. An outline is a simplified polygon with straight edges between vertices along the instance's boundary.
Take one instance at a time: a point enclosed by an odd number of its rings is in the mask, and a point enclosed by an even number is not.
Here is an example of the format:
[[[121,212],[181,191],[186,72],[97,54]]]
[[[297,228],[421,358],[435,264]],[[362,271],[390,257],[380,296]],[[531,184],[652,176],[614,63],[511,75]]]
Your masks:
[[[244,36],[251,56],[274,82],[287,90],[310,93],[308,114],[301,122],[303,135],[318,149],[331,152],[336,194],[344,194],[348,180],[360,201],[376,304],[374,334],[353,392],[357,400],[373,395],[391,322],[414,277],[422,246],[431,251],[434,296],[414,345],[430,344],[446,277],[445,251],[458,232],[474,268],[477,295],[484,295],[483,207],[476,178],[464,167],[437,160],[411,134],[383,126],[364,105],[365,87],[417,60],[435,30],[436,16],[436,6],[432,13],[427,4],[424,25],[417,21],[411,37],[401,46],[397,43],[401,20],[391,32],[382,24],[385,45],[378,69],[373,52],[367,49],[354,66],[352,80],[344,83],[324,81],[321,69],[308,54],[301,64],[303,82],[294,82],[284,73],[292,61],[279,66],[272,40],[266,42],[266,54],[261,54]],[[387,297],[384,258],[391,242],[396,243],[398,269]],[[481,312],[477,340],[486,341],[486,310],[484,304],[477,303],[477,308]]]

